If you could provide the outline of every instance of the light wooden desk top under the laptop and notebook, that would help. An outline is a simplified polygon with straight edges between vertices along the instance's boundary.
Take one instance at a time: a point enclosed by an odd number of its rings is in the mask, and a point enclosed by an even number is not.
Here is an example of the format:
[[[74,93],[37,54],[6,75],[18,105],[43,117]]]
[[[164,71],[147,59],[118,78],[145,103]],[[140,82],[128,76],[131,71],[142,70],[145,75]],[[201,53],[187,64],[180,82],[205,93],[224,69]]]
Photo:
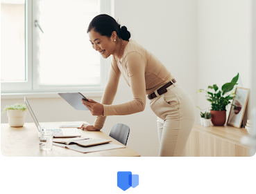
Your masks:
[[[64,123],[64,122],[62,122]],[[84,122],[86,123],[86,122]],[[40,123],[41,124],[41,123]],[[78,129],[81,137],[110,139],[111,143],[123,145],[102,131],[86,131]],[[52,151],[40,151],[35,123],[26,123],[23,127],[10,127],[1,124],[1,155],[3,156],[140,156],[130,148],[117,148],[108,151],[80,153],[68,148],[54,146]]]

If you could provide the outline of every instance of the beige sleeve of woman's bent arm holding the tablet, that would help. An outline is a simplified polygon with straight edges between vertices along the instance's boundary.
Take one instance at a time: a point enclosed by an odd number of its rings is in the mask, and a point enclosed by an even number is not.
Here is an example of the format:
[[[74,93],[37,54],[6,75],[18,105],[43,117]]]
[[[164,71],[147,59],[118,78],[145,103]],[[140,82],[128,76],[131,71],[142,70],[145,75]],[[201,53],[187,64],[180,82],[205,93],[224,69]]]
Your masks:
[[[123,60],[123,64],[126,64],[126,66],[121,69],[121,72],[128,76],[133,99],[123,104],[103,104],[104,116],[139,113],[146,106],[146,61],[138,52],[128,53]]]

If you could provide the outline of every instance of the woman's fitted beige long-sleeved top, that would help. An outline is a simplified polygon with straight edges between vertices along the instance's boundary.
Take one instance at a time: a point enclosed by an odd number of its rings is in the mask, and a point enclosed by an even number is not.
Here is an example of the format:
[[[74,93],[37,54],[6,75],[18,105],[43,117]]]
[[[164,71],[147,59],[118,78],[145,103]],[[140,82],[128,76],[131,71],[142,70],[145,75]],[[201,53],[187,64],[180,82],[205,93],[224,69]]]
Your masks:
[[[133,99],[123,104],[112,105],[121,75],[131,88]],[[146,95],[153,93],[173,78],[171,72],[157,57],[135,40],[130,39],[123,50],[121,61],[114,56],[111,58],[108,84],[101,99],[104,115],[96,117],[94,127],[101,129],[106,116],[130,115],[143,111],[146,104]]]

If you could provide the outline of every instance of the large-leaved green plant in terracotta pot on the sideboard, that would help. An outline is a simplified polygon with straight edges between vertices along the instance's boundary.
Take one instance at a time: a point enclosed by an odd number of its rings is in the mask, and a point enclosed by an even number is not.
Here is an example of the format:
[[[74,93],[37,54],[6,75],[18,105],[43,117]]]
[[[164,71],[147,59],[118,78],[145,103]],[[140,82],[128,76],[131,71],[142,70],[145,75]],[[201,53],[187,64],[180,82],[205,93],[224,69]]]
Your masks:
[[[214,84],[213,86],[208,86],[208,89],[214,89],[214,93],[209,92],[208,90],[199,89],[196,93],[206,93],[207,101],[211,102],[212,109],[210,113],[212,114],[212,124],[214,126],[223,126],[226,120],[226,106],[230,104],[230,100],[235,96],[234,88],[237,85],[237,80],[239,77],[239,73],[237,76],[233,77],[231,82],[223,84],[221,90],[218,91],[218,86]],[[218,91],[218,92],[217,92]],[[233,105],[233,104],[232,104]],[[233,105],[234,106],[234,105]]]

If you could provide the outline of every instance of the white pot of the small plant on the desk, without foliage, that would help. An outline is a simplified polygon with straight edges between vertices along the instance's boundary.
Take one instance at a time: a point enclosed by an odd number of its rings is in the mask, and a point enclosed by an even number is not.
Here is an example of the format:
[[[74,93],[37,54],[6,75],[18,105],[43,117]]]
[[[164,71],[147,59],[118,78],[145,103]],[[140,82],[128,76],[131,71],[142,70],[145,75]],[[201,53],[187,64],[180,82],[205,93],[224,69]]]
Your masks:
[[[8,124],[10,126],[24,126],[26,111],[7,110]]]

